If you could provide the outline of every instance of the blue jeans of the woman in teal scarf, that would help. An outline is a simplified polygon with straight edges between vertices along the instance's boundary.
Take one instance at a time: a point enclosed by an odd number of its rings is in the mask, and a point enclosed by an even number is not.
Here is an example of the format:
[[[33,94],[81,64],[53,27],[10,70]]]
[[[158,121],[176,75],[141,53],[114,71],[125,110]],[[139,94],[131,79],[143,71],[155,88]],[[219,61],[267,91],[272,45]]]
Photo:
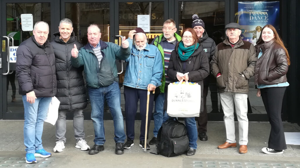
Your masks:
[[[197,149],[198,132],[195,117],[185,117],[183,120],[185,122],[187,136],[190,141],[189,147]]]

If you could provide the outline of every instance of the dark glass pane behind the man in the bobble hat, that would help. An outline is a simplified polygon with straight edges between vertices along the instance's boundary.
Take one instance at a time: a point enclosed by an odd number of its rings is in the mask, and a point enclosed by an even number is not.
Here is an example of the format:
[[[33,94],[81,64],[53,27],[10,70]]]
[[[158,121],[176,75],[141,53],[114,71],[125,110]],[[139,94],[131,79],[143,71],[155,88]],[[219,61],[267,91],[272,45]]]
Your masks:
[[[216,44],[223,42],[225,37],[225,1],[179,1],[179,26],[191,27],[193,14],[197,14],[205,23],[205,32]],[[206,98],[207,112],[222,112],[220,98],[217,94],[216,79],[209,75],[209,90]],[[220,110],[219,110],[220,109]]]

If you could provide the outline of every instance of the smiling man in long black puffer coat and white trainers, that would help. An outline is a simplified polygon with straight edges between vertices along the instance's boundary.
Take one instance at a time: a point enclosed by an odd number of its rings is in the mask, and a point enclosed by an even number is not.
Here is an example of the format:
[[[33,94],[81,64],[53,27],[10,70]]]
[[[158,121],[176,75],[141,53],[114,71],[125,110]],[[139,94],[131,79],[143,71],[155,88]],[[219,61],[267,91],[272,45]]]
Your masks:
[[[59,22],[59,31],[54,33],[51,42],[56,59],[57,94],[60,101],[58,119],[56,121],[56,145],[53,152],[62,152],[66,142],[66,114],[73,112],[73,126],[76,139],[76,148],[89,150],[84,140],[83,110],[87,105],[85,85],[82,76],[83,68],[75,68],[71,65],[71,50],[74,44],[79,50],[82,45],[76,41],[73,32],[72,21],[62,19]]]

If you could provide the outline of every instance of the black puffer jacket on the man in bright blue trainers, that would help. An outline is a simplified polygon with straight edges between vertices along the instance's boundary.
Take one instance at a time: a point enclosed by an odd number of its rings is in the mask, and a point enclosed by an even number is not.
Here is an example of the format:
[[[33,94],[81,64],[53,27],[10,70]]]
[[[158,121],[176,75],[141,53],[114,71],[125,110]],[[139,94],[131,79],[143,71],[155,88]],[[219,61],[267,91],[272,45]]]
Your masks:
[[[49,41],[46,40],[41,46],[31,36],[19,45],[16,55],[19,94],[34,91],[36,97],[55,96],[55,56]]]

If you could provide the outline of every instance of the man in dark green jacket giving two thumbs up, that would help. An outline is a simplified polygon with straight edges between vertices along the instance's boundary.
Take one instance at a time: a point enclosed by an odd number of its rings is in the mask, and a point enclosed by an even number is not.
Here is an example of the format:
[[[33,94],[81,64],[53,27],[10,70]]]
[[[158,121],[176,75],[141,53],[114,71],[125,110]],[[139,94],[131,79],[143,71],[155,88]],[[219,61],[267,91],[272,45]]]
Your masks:
[[[97,25],[88,27],[88,44],[79,51],[74,45],[72,49],[71,63],[74,67],[84,66],[88,94],[91,100],[91,119],[95,130],[95,145],[91,147],[88,154],[97,154],[104,150],[104,126],[103,107],[104,100],[110,108],[113,116],[116,142],[116,154],[124,153],[123,115],[121,111],[121,92],[118,83],[116,59],[127,59],[131,54],[129,42],[124,37],[121,47],[112,42],[100,40],[100,28]]]

